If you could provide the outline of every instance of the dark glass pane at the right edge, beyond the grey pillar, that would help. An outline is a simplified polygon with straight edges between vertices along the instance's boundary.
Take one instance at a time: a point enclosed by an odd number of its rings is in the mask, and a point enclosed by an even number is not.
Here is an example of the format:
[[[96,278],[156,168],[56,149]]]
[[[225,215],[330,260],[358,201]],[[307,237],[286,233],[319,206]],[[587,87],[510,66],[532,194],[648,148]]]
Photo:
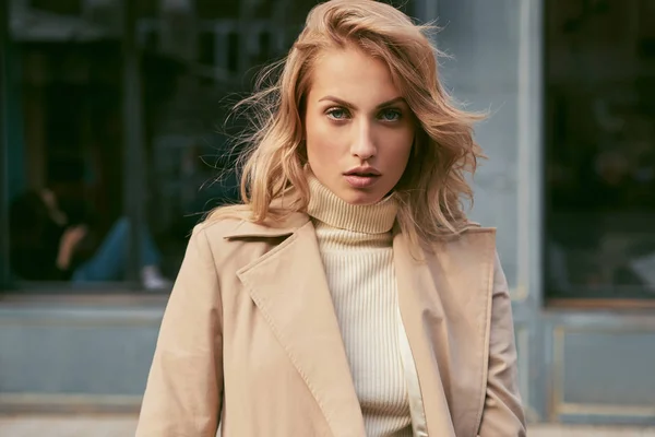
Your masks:
[[[655,3],[547,5],[549,297],[655,298]]]

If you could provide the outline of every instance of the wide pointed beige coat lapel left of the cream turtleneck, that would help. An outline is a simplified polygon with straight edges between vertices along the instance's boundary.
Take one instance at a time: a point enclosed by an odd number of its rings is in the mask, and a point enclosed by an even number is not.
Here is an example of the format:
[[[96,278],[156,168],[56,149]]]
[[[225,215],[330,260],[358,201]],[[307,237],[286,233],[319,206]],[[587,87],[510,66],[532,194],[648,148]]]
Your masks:
[[[252,232],[234,236],[252,236]],[[305,379],[333,434],[365,435],[312,223],[301,225],[238,275]]]

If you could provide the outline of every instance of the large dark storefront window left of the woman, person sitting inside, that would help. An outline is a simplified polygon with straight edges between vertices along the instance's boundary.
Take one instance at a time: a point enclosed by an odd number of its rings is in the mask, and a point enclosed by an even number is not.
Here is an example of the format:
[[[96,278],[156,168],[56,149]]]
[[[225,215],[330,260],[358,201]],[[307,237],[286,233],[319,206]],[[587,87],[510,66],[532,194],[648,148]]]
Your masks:
[[[169,291],[193,226],[239,201],[231,104],[314,4],[13,1],[11,288]]]

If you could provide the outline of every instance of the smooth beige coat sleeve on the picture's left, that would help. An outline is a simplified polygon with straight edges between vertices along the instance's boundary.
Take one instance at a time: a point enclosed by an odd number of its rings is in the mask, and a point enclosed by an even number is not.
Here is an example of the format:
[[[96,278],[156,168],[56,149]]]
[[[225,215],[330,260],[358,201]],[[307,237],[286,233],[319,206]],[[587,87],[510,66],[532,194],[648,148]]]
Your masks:
[[[193,231],[164,312],[136,437],[214,437],[223,391],[223,308],[205,232]]]

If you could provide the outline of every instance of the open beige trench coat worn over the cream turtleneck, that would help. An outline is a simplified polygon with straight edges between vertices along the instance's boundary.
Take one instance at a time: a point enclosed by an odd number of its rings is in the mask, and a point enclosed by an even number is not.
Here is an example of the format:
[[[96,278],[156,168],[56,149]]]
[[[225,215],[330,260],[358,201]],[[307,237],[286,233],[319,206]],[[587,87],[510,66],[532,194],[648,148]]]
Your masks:
[[[393,239],[398,299],[430,437],[524,436],[511,302],[495,231]],[[210,221],[165,311],[138,437],[362,437],[313,225]],[[427,428],[427,432],[426,432]]]

